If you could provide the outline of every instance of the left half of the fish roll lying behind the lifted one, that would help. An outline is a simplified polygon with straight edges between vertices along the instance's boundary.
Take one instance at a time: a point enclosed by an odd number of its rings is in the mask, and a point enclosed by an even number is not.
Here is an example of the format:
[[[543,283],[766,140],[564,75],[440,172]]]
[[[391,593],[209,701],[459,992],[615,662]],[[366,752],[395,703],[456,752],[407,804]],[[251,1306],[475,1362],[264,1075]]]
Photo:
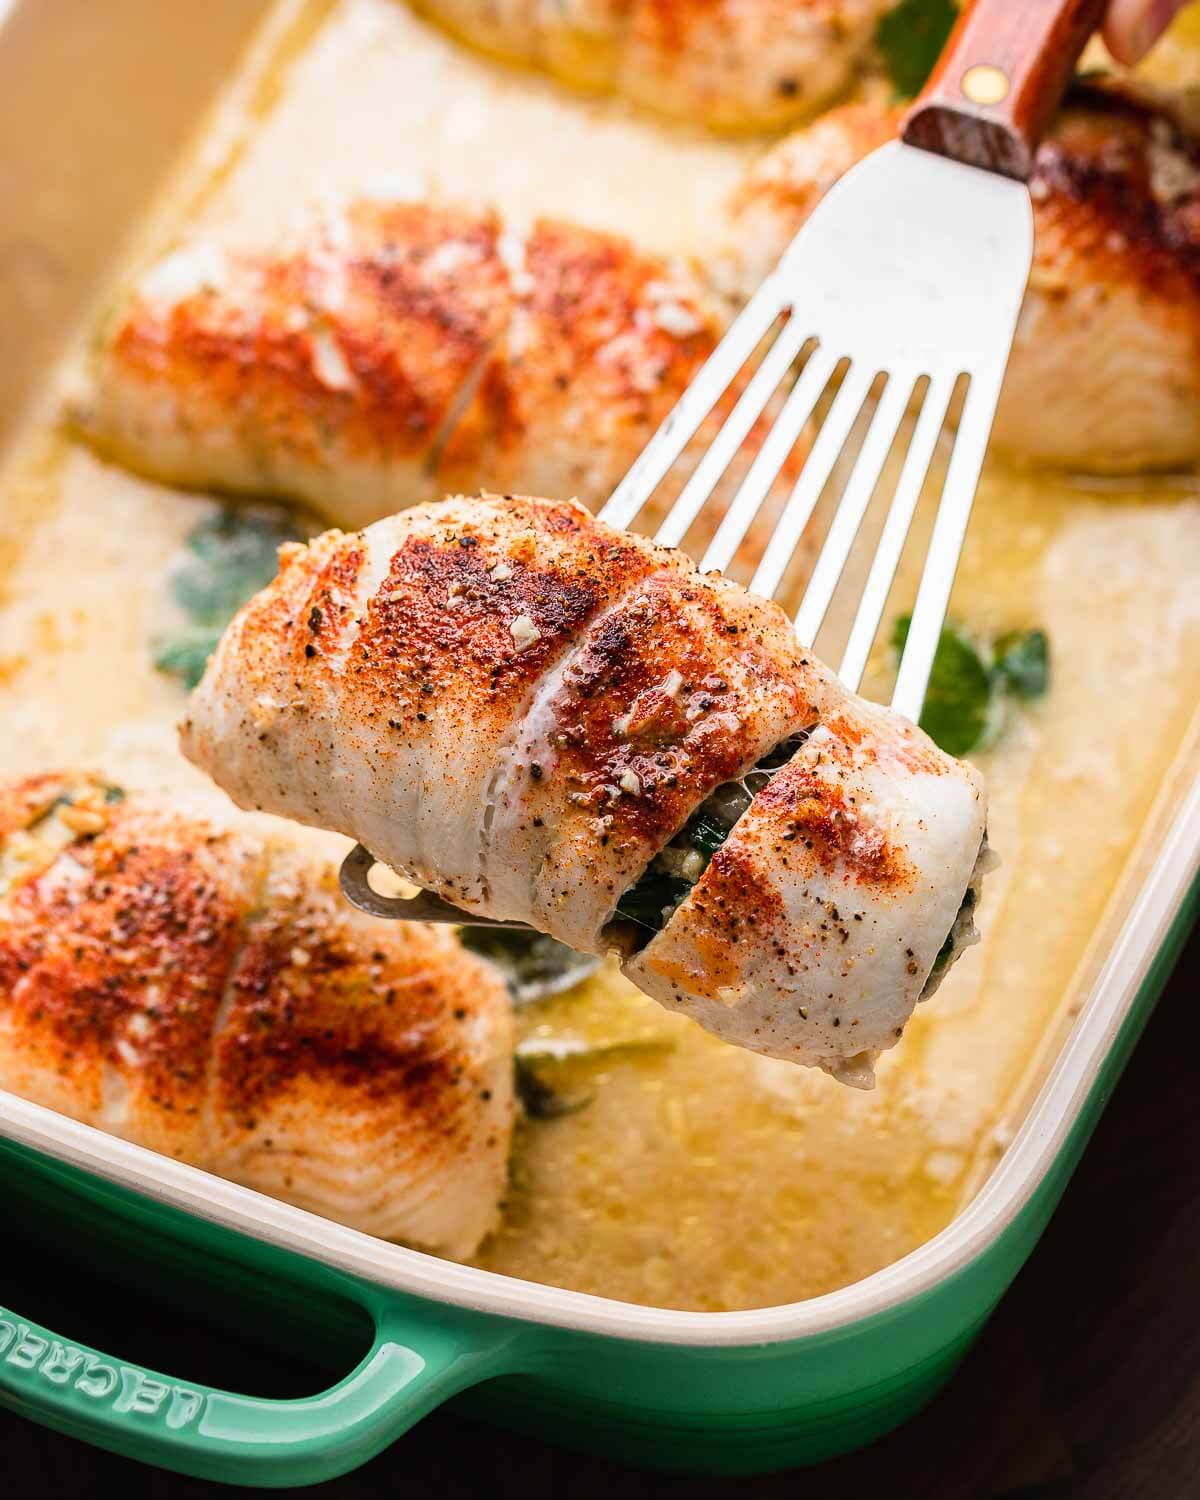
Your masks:
[[[74,420],[152,478],[351,525],[384,494],[434,495],[438,446],[507,326],[500,232],[489,214],[357,202],[268,249],[188,242],[102,332]]]

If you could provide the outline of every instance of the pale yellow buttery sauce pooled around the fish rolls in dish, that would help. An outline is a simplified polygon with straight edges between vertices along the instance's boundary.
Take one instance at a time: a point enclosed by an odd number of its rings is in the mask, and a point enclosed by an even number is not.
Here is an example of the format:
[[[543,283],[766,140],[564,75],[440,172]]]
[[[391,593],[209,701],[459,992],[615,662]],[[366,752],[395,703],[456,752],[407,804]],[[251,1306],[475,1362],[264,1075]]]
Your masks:
[[[393,0],[294,10],[286,60],[214,122],[147,254],[196,220],[270,234],[310,196],[356,189],[490,200],[702,254],[753,153],[506,72]],[[1180,57],[1194,52],[1176,46],[1176,76]],[[150,657],[164,574],[210,504],[52,430],[20,446],[3,484],[2,774],[98,762],[135,784],[195,780],[174,750],[182,693]],[[1004,1149],[1184,740],[1200,696],[1198,564],[1191,482],[1089,489],[992,465],[954,614],[984,630],[1044,626],[1053,682],[980,758],[1004,861],[984,942],[866,1095],[724,1047],[614,975],[522,1010],[525,1047],[592,1048],[548,1065],[590,1102],[520,1126],[504,1224],[478,1263],[636,1302],[744,1308],[844,1286],[942,1228]],[[910,588],[909,566],[890,614]],[[880,660],[876,690],[886,672]]]

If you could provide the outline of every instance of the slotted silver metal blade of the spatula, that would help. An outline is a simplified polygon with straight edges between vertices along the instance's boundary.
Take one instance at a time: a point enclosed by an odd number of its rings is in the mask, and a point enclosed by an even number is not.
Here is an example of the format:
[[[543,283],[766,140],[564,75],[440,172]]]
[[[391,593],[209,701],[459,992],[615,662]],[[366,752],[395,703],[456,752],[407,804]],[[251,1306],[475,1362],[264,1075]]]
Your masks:
[[[832,476],[843,468],[840,501],[796,616],[802,642],[812,645],[915,404],[908,450],[842,657],[843,681],[856,688],[957,392],[962,414],[892,698],[898,712],[916,720],[1032,250],[1032,207],[1020,183],[914,146],[880,147],[818,206],[600,519],[633,526],[684,450],[696,444],[692,476],[666,510],[657,538],[684,542],[712,506],[720,520],[702,567],[724,570],[783,477],[786,498],[752,579],[758,592],[772,596]],[[866,432],[850,452],[864,417]],[[812,442],[792,482],[786,465],[810,429]],[[753,462],[732,496],[718,496],[753,434],[759,438]],[[374,862],[358,846],[342,868],[342,888],[356,906],[378,916],[482,921],[429,892],[411,902],[381,897],[369,884]]]

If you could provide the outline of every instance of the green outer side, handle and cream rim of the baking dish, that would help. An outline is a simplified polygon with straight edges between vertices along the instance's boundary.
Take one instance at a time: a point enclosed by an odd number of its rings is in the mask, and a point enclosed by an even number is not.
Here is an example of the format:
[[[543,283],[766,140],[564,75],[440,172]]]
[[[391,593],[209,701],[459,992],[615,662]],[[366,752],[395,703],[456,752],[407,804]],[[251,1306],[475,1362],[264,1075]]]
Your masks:
[[[0,1095],[6,1202],[111,1262],[189,1264],[255,1317],[369,1322],[338,1384],[266,1400],[174,1378],[0,1310],[0,1401],[147,1462],[314,1484],[460,1392],[482,1413],[630,1462],[753,1473],[819,1462],[918,1410],[1012,1280],[1078,1161],[1196,914],[1200,782],[1149,830],[1071,1032],[1022,1128],[940,1234],[826,1296],[675,1312],[513,1281],[342,1228]],[[1144,844],[1143,844],[1144,854]],[[1137,864],[1137,861],[1136,861]]]

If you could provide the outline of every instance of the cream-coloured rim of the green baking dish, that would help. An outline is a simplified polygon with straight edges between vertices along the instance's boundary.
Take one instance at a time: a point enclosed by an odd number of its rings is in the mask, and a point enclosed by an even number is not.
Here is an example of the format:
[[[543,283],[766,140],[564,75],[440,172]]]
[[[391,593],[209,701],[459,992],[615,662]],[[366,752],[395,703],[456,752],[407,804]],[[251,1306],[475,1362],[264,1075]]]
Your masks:
[[[1184,736],[1184,753],[1192,741]],[[1174,782],[1164,778],[1164,792]],[[1130,866],[1161,822],[1148,812]],[[1012,1222],[1054,1162],[1126,1020],[1137,993],[1200,872],[1200,774],[1179,800],[1158,858],[1125,912],[1112,948],[1012,1143],[975,1197],[916,1250],[836,1292],[740,1312],[642,1306],[442,1260],[324,1220],[0,1090],[0,1137],[104,1180],[276,1248],[318,1260],[376,1287],[528,1324],[693,1348],[812,1338],[886,1312],[930,1292],[982,1254]],[[1101,924],[1098,924],[1101,926]]]

